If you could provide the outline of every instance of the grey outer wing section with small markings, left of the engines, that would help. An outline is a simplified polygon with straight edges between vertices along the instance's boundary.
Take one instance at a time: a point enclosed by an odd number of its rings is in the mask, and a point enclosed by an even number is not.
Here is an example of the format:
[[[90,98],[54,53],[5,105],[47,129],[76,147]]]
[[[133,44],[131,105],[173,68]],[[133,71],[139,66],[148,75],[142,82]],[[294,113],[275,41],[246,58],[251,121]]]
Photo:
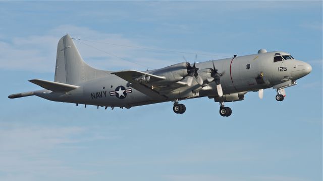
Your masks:
[[[112,72],[111,74],[115,74],[130,83],[138,83],[138,82],[145,82],[145,81],[154,82],[154,81],[165,79],[165,77],[163,76],[153,75],[150,73],[145,73],[137,70],[118,71],[118,72]]]

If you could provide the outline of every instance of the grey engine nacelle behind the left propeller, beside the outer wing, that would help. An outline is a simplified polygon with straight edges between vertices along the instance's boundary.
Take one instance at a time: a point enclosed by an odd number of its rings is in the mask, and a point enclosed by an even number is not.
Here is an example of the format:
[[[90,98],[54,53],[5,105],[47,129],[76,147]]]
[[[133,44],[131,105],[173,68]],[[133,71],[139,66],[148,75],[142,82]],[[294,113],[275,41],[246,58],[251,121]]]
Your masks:
[[[166,77],[165,80],[156,82],[157,84],[177,82],[183,80],[186,76],[188,76],[187,67],[189,65],[190,64],[188,62],[182,62],[170,65],[165,68],[160,68],[149,73]]]

